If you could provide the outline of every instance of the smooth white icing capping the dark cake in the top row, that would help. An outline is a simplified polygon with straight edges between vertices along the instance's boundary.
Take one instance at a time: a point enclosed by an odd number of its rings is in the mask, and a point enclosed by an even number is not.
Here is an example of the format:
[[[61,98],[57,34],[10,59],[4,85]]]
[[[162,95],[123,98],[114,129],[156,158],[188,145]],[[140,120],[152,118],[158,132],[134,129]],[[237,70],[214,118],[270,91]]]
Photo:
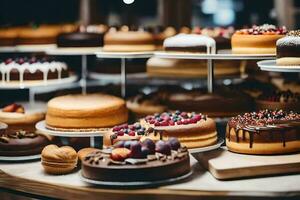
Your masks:
[[[165,39],[163,45],[164,47],[206,46],[208,53],[209,48],[212,49],[211,53],[216,53],[216,41],[213,38],[205,35],[181,33]]]

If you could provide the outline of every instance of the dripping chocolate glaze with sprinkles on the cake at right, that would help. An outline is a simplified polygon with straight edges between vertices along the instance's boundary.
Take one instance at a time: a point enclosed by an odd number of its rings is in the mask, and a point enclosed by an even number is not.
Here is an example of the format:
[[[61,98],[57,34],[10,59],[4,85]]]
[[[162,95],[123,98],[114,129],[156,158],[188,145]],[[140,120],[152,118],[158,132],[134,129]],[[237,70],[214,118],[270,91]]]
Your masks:
[[[235,130],[235,137],[230,131]],[[249,142],[252,148],[253,142],[282,142],[285,146],[287,141],[300,140],[300,114],[291,112],[262,110],[259,112],[245,113],[231,118],[227,124],[226,138],[239,143],[239,131],[243,132],[243,141]],[[245,132],[249,133],[246,140]],[[267,137],[269,136],[269,137]],[[288,137],[287,137],[288,136]]]

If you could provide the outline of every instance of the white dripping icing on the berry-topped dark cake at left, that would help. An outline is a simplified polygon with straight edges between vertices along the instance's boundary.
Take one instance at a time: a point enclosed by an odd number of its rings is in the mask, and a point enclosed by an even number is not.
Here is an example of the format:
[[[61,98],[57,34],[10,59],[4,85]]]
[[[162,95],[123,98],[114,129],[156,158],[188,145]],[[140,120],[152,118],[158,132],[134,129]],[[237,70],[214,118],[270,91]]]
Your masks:
[[[10,81],[10,73],[12,70],[18,70],[19,72],[19,81],[22,83],[24,81],[24,72],[28,70],[30,73],[36,73],[37,71],[41,71],[43,73],[43,80],[46,82],[48,73],[55,72],[58,73],[58,79],[61,79],[62,70],[67,70],[67,65],[63,62],[36,62],[36,63],[28,63],[25,62],[23,64],[19,64],[15,61],[5,64],[4,62],[0,63],[0,73],[2,76],[2,83]]]

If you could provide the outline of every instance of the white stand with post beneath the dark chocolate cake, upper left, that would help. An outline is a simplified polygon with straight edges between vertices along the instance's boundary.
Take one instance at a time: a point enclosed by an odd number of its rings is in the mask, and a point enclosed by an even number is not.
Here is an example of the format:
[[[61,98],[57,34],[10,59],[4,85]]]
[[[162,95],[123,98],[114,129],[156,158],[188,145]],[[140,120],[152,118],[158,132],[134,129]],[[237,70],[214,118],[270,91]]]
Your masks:
[[[82,94],[86,94],[87,88],[87,56],[95,55],[96,51],[101,50],[100,47],[68,47],[54,48],[46,51],[48,55],[54,56],[81,56],[81,79],[80,85]]]

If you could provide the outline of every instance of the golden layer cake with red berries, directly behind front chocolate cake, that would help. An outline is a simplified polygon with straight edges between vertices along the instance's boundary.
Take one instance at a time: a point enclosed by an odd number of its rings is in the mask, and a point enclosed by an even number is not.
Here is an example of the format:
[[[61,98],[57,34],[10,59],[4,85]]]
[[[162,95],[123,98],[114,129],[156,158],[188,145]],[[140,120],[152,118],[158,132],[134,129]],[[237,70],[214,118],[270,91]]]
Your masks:
[[[141,119],[153,140],[176,137],[187,148],[209,146],[217,142],[216,123],[207,116],[187,112],[164,112]]]

